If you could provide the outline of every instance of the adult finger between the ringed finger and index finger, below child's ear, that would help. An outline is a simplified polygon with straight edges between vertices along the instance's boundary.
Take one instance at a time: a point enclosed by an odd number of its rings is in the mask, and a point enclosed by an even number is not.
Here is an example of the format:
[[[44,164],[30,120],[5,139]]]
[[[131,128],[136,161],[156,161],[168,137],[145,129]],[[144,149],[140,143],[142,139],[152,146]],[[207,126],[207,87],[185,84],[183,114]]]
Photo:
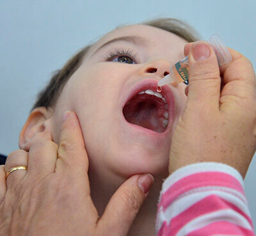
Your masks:
[[[28,175],[44,177],[53,173],[56,166],[58,145],[51,139],[40,139],[31,144],[28,155]]]

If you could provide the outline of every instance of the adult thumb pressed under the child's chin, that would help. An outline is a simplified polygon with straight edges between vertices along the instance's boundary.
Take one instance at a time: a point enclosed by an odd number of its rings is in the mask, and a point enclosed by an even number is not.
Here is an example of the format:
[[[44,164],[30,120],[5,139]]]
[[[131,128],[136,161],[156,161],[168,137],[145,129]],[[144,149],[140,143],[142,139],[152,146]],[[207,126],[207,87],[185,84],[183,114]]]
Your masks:
[[[97,230],[106,235],[127,235],[153,184],[150,174],[133,175],[126,180],[109,200]]]

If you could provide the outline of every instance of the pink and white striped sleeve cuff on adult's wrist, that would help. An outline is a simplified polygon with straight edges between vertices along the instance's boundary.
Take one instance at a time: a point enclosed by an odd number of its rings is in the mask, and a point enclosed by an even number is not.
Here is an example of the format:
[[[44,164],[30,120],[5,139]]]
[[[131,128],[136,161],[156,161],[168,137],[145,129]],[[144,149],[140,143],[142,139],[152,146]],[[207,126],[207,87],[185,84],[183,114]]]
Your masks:
[[[217,162],[178,169],[164,180],[156,230],[157,236],[255,235],[243,178]]]

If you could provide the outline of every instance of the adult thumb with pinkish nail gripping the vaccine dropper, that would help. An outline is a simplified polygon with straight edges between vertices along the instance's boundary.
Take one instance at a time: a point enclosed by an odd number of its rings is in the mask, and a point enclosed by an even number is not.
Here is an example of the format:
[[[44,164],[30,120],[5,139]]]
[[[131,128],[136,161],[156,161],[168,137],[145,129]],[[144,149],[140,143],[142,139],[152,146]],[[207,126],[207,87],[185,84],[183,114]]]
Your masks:
[[[189,47],[189,92],[187,106],[202,111],[220,104],[221,77],[216,54],[207,42],[198,41]],[[198,110],[197,110],[198,111]]]

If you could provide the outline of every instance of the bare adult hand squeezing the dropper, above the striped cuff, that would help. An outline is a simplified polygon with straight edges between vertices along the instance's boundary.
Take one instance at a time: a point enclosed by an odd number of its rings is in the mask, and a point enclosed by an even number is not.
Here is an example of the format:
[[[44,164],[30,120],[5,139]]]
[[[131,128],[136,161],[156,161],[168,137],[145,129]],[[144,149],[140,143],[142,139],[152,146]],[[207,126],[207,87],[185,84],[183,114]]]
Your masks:
[[[246,175],[256,149],[256,79],[252,63],[229,51],[232,61],[219,68],[208,43],[184,48],[189,55],[188,100],[173,134],[170,173],[212,161]]]

